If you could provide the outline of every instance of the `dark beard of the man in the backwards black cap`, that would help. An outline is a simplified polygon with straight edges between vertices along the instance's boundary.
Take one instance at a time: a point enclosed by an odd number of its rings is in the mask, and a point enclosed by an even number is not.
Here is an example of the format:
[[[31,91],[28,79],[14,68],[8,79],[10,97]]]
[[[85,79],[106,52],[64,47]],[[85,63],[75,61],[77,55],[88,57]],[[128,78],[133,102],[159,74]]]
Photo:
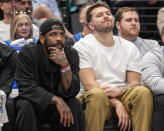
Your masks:
[[[51,53],[48,49],[49,47],[56,47],[56,46],[61,46],[62,48],[64,47],[62,42],[48,44],[46,41],[44,41],[44,46],[48,55]],[[62,48],[60,48],[60,50],[62,50]]]

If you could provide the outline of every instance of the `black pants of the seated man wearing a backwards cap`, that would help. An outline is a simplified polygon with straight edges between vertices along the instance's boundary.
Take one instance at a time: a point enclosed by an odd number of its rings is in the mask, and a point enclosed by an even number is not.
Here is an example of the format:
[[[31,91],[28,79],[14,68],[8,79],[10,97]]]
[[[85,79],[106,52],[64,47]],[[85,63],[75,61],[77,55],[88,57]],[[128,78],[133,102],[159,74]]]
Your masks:
[[[60,114],[56,105],[49,105],[46,111],[40,114],[34,110],[29,101],[18,99],[16,103],[16,131],[40,131],[44,123],[51,125],[51,130],[53,131],[84,131],[85,118],[81,103],[74,98],[68,101],[67,105],[74,116],[74,124],[69,128],[60,124]]]

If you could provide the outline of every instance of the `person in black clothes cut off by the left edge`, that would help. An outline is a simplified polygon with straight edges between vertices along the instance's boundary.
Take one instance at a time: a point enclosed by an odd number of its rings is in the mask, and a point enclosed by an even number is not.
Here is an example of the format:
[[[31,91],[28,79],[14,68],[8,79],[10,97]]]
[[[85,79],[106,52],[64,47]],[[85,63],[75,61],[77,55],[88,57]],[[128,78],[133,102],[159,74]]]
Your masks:
[[[15,131],[15,102],[9,95],[14,81],[16,63],[16,51],[0,42],[0,127],[3,126],[2,131]],[[5,101],[6,109],[2,106]],[[6,111],[8,117],[5,115]]]

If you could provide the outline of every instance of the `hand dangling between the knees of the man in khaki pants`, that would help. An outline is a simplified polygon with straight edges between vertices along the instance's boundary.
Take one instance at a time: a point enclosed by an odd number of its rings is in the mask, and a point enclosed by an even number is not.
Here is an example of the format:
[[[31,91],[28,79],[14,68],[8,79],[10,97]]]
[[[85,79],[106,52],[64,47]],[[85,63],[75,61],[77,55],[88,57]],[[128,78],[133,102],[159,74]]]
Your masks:
[[[118,127],[120,127],[120,131],[126,131],[126,129],[128,129],[128,131],[130,131],[131,119],[122,103],[118,103],[116,105],[116,114],[119,119]]]

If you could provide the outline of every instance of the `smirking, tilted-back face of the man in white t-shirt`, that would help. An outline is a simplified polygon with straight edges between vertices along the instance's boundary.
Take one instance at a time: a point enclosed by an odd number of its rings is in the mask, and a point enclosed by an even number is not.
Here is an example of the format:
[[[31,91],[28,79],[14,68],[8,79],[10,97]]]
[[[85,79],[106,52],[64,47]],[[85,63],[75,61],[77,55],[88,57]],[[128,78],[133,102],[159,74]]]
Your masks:
[[[114,27],[114,19],[111,12],[105,7],[92,10],[92,19],[89,27],[97,32],[111,32]]]

